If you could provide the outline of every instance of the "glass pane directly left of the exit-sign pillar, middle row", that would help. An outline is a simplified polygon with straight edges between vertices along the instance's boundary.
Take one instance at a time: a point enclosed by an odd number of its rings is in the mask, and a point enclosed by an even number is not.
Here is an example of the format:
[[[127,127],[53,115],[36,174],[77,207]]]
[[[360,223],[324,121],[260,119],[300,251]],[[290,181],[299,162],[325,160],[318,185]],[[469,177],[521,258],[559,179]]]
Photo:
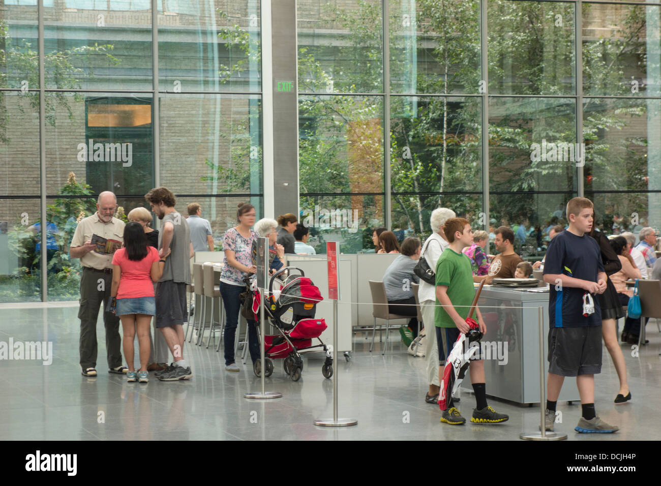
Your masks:
[[[259,95],[161,95],[160,114],[163,185],[175,194],[262,192]]]

